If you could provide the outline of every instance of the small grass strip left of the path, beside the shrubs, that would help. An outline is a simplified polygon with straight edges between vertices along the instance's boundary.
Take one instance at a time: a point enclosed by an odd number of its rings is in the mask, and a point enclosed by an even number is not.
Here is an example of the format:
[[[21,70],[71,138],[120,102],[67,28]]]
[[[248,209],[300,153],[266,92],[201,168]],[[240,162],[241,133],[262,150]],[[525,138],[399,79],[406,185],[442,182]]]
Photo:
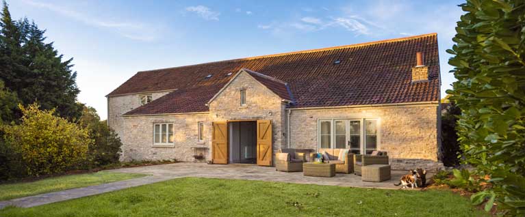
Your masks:
[[[1,184],[0,201],[27,197],[47,192],[55,192],[71,188],[95,186],[108,182],[116,182],[125,179],[145,176],[133,173],[112,173],[101,171],[98,173],[86,173],[79,175],[62,175],[38,180],[36,182],[23,182],[18,184]]]

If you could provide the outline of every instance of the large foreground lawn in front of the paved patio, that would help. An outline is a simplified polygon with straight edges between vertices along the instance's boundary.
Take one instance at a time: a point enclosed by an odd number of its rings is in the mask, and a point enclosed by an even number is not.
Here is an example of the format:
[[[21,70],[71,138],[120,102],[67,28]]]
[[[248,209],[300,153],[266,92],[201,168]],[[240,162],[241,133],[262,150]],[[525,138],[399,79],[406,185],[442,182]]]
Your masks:
[[[0,216],[488,216],[441,190],[381,190],[180,178]]]

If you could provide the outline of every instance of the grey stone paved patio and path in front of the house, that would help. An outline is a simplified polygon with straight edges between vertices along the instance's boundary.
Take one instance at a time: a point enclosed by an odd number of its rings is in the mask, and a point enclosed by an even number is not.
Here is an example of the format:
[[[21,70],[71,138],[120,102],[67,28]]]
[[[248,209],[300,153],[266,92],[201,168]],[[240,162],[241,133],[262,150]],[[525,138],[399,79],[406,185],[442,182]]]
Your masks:
[[[39,194],[30,197],[22,197],[9,201],[0,201],[0,209],[14,205],[17,207],[34,207],[47,203],[55,203],[94,194],[102,194],[135,186],[153,184],[179,177],[212,177],[221,179],[246,179],[261,180],[269,182],[290,182],[298,184],[319,184],[327,186],[352,186],[360,188],[396,188],[399,177],[405,175],[406,171],[392,171],[392,179],[386,182],[362,182],[361,177],[353,174],[337,173],[335,177],[307,177],[303,173],[285,173],[275,171],[274,167],[259,167],[240,164],[202,164],[202,163],[176,163],[162,164],[149,167],[133,167],[126,169],[110,170],[118,173],[143,173],[150,176],[128,179],[120,182],[88,186],[85,188],[74,188],[60,192]],[[427,177],[429,178],[429,177]]]

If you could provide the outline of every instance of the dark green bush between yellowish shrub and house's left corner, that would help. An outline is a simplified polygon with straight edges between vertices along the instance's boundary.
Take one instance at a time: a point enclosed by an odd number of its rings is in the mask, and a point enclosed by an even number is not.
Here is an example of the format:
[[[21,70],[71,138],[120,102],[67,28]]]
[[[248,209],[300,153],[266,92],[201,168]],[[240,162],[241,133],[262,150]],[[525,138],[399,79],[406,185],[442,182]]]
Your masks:
[[[98,167],[118,162],[122,143],[114,130],[101,121],[97,111],[90,106],[84,106],[79,119],[80,126],[89,130],[94,144],[89,148],[90,166]]]

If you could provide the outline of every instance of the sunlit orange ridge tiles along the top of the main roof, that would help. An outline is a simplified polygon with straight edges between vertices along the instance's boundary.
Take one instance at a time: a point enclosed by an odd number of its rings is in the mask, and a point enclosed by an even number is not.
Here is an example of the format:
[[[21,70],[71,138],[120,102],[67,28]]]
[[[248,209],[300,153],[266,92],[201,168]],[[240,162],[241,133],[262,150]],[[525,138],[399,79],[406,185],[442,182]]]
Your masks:
[[[159,68],[159,69],[155,69],[155,70],[138,71],[137,73],[140,73],[140,72],[155,72],[155,71],[170,70],[170,69],[175,69],[175,68],[185,68],[185,67],[190,67],[190,66],[200,66],[200,65],[206,65],[206,64],[211,64],[211,63],[221,63],[221,62],[225,62],[225,61],[242,61],[242,60],[262,59],[262,58],[268,58],[268,57],[279,57],[279,56],[285,56],[285,55],[293,55],[293,54],[298,54],[298,53],[314,53],[314,52],[320,52],[320,51],[325,51],[325,50],[337,50],[337,49],[342,49],[342,48],[355,48],[355,47],[361,47],[361,46],[369,46],[369,45],[373,45],[373,44],[385,44],[385,43],[390,43],[390,42],[402,42],[402,41],[405,41],[405,40],[412,40],[412,39],[415,39],[415,38],[424,38],[424,37],[433,36],[433,35],[437,35],[437,33],[426,33],[426,34],[422,34],[422,35],[412,35],[412,36],[409,36],[409,37],[392,38],[392,39],[387,39],[387,40],[379,40],[379,41],[374,41],[374,42],[363,42],[363,43],[357,43],[357,44],[347,44],[347,45],[342,45],[342,46],[331,46],[331,47],[326,47],[326,48],[316,48],[316,49],[309,49],[309,50],[298,50],[298,51],[285,52],[285,53],[276,53],[276,54],[272,54],[272,55],[260,55],[260,56],[255,56],[255,57],[244,57],[244,58],[238,58],[238,59],[226,59],[226,60],[220,60],[220,61],[211,61],[211,62],[207,62],[207,63],[196,63],[196,64],[186,65],[186,66],[175,66],[175,67],[169,67],[169,68]]]

